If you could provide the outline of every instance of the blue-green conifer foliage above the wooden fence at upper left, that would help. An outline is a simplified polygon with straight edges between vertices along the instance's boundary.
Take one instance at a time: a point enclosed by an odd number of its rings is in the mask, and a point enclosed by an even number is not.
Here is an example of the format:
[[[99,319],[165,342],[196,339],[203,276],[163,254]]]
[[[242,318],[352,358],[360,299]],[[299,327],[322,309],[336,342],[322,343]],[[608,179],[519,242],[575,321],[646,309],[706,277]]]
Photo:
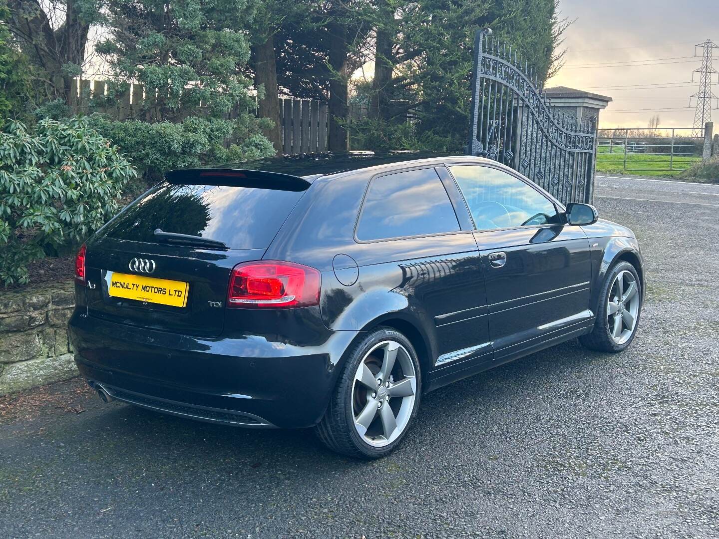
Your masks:
[[[239,103],[254,108],[252,82],[241,73],[249,60],[246,29],[258,0],[106,0],[109,37],[96,46],[116,88],[145,86],[153,120],[219,118]],[[156,91],[155,91],[156,88]],[[249,124],[248,121],[244,122]]]

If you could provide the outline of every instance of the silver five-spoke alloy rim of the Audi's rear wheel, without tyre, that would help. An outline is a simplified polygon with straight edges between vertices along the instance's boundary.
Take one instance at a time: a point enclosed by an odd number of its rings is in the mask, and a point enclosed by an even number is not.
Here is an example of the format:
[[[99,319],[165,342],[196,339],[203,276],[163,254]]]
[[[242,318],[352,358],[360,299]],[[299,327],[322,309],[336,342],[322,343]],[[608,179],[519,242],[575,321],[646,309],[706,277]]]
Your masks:
[[[417,392],[416,372],[407,349],[382,341],[365,354],[354,373],[354,428],[370,446],[384,447],[407,428]]]

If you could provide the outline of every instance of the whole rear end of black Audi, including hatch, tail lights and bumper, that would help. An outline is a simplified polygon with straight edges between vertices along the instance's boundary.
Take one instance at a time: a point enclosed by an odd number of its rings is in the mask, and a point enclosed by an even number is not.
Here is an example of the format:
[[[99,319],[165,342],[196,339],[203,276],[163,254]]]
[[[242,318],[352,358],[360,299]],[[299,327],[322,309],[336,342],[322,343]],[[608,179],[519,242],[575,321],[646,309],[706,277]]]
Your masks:
[[[91,386],[106,399],[207,421],[311,425],[328,378],[314,346],[331,336],[320,275],[262,260],[310,185],[180,171],[93,236],[78,254],[70,321]]]

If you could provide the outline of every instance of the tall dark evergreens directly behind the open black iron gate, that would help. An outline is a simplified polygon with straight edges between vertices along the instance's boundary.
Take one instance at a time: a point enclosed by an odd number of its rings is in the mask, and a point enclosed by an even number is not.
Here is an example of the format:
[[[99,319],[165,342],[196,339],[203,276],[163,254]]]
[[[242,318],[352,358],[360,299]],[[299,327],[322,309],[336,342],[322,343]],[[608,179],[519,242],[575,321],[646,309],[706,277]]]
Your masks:
[[[562,60],[554,51],[567,22],[556,0],[376,1],[375,78],[355,97],[370,103],[370,116],[354,124],[354,142],[365,147],[462,150],[477,29],[491,27],[540,81]],[[415,121],[410,137],[408,113]]]

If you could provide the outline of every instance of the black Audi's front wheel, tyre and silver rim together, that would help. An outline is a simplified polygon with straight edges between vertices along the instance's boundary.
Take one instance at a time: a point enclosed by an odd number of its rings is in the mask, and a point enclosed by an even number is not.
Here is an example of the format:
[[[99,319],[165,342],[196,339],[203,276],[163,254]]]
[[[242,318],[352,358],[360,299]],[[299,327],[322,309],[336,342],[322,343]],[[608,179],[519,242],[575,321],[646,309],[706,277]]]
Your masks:
[[[615,264],[600,290],[592,333],[580,342],[592,350],[620,352],[634,340],[641,315],[641,280],[629,262]]]

